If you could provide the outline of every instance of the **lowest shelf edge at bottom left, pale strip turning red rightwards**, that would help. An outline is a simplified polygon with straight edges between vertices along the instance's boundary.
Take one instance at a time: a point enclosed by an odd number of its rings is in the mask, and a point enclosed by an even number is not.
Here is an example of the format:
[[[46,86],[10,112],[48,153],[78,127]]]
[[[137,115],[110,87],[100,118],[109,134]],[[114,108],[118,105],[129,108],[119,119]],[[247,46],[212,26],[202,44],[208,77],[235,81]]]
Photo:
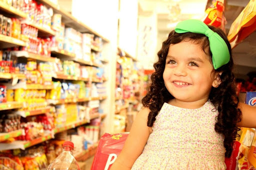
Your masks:
[[[13,141],[12,143],[1,143],[0,145],[0,151],[3,150],[14,150],[14,149],[21,149],[25,150],[28,147],[34,146],[36,144],[42,143],[44,141],[47,141],[49,139],[52,139],[50,134],[45,134],[43,137],[36,138],[31,141]]]

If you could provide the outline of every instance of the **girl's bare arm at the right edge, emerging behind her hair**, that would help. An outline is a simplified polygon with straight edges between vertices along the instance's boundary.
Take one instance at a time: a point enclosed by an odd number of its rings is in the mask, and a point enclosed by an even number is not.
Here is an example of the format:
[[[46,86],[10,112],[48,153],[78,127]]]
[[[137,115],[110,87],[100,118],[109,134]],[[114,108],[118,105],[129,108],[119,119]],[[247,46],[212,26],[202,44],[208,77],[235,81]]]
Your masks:
[[[238,123],[238,126],[256,128],[256,107],[239,102],[238,108],[242,112],[242,120]]]

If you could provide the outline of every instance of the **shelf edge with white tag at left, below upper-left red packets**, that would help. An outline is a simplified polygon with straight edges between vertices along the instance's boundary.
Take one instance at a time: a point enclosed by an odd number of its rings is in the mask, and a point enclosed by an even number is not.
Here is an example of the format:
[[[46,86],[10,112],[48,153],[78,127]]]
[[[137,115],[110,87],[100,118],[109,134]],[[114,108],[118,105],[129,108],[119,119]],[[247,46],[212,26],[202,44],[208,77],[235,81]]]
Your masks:
[[[11,55],[15,55],[16,57],[32,58],[32,59],[35,59],[35,60],[46,61],[46,62],[55,62],[54,57],[35,54],[35,53],[32,53],[32,52],[27,52],[27,51],[11,51]]]

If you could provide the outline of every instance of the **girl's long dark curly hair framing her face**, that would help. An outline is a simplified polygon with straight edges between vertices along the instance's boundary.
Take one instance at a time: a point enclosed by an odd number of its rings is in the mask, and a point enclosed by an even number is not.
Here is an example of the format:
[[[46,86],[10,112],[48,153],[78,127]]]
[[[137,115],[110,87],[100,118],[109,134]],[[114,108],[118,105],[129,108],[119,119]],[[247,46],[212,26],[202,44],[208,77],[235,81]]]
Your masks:
[[[239,100],[235,93],[234,74],[232,72],[233,60],[231,47],[225,33],[221,29],[210,25],[208,25],[208,27],[223,38],[230,53],[230,61],[215,70],[216,72],[222,72],[220,75],[220,85],[217,88],[212,88],[209,94],[209,101],[218,111],[217,122],[214,129],[217,133],[224,136],[225,157],[229,158],[232,153],[233,142],[239,130],[237,122],[241,121],[241,111],[237,108]],[[158,61],[153,65],[155,72],[151,75],[151,84],[148,92],[142,99],[143,106],[148,107],[150,110],[147,118],[148,127],[153,126],[155,117],[163,103],[174,98],[164,86],[163,71],[169,45],[177,44],[184,39],[190,39],[193,40],[194,43],[200,44],[205,54],[212,58],[212,54],[209,50],[209,40],[204,34],[191,32],[176,33],[174,30],[169,33],[168,38],[163,41],[162,47],[157,53]],[[211,58],[210,61],[212,62]]]

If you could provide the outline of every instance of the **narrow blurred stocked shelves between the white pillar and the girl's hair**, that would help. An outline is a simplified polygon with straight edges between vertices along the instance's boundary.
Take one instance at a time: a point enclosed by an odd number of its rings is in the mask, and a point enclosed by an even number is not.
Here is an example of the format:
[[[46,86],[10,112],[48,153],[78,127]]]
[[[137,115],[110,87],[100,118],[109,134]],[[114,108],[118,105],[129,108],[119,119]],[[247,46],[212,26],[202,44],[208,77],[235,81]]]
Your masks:
[[[114,132],[129,131],[140,104],[141,70],[136,60],[120,48],[117,50]],[[125,127],[126,125],[126,127]]]

